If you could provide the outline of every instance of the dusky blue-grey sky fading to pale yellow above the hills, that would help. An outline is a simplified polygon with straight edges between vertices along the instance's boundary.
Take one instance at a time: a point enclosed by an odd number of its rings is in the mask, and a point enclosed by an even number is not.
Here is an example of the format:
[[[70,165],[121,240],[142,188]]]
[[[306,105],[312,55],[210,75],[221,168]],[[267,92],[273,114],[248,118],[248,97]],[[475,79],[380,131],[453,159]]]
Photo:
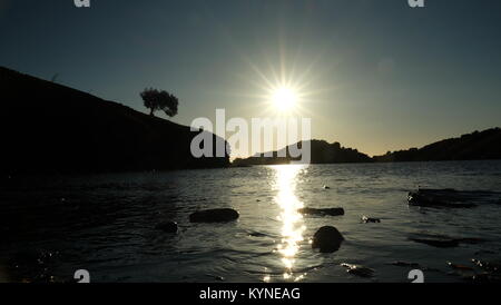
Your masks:
[[[501,2],[0,0],[0,66],[173,121],[271,117],[281,81],[312,137],[369,155],[501,126]]]

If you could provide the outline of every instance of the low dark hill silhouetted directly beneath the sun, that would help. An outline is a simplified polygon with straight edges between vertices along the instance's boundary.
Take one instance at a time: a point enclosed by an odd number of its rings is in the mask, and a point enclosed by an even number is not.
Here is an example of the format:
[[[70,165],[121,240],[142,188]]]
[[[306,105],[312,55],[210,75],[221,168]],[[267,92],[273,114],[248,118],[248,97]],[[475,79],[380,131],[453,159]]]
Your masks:
[[[298,144],[301,147],[302,142]],[[246,159],[235,159],[233,164],[235,166],[248,166],[248,165],[274,165],[274,164],[288,164],[293,159],[288,154],[289,147],[285,150],[287,157],[277,157],[278,151],[273,151],[272,158],[263,157],[264,154],[253,156]],[[371,163],[372,159],[365,154],[358,152],[356,149],[342,147],[338,142],[328,144],[324,140],[311,140],[312,147],[312,164],[336,164],[336,163]]]

